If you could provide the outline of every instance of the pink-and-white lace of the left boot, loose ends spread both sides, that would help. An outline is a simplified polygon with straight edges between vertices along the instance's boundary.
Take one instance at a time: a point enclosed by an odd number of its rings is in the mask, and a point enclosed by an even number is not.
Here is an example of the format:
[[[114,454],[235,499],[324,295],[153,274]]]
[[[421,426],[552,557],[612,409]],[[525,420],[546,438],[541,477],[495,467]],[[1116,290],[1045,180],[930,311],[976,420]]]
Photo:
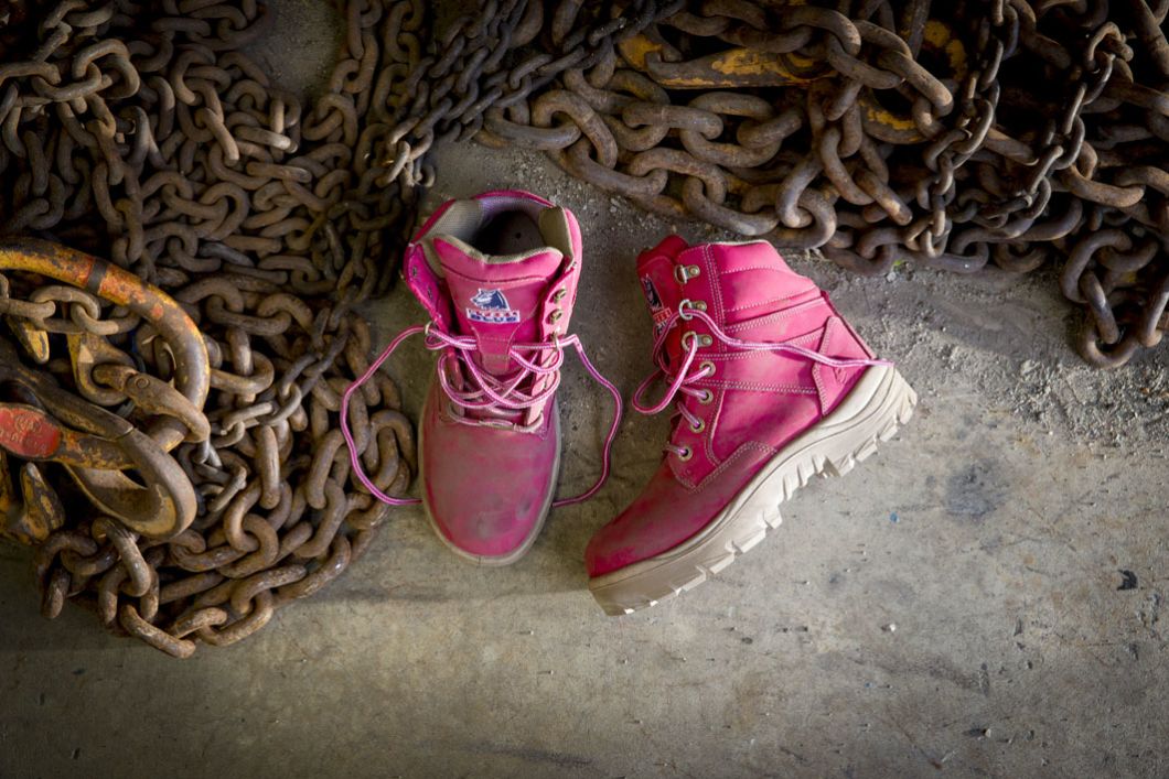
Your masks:
[[[438,382],[442,385],[443,391],[447,397],[450,398],[451,403],[458,405],[463,409],[489,411],[489,410],[503,410],[503,411],[520,411],[524,409],[531,409],[545,401],[549,399],[552,395],[560,387],[560,368],[565,364],[565,347],[570,346],[576,349],[576,355],[580,357],[581,363],[588,370],[593,378],[609,390],[613,396],[615,404],[615,410],[613,415],[613,423],[609,425],[609,434],[604,439],[604,452],[601,459],[601,477],[586,492],[576,495],[574,498],[565,498],[553,502],[553,506],[569,506],[572,503],[579,503],[581,501],[588,500],[596,494],[604,482],[609,478],[610,467],[610,453],[613,451],[613,440],[617,436],[617,427],[621,425],[621,415],[624,404],[621,401],[621,392],[617,388],[613,385],[608,378],[601,375],[589,361],[588,356],[584,354],[584,347],[580,342],[580,338],[575,334],[565,336],[554,336],[552,341],[544,341],[540,343],[514,343],[509,348],[507,356],[511,357],[520,367],[517,375],[507,382],[503,382],[499,378],[485,373],[480,369],[473,360],[470,359],[470,354],[478,349],[473,338],[458,336],[444,333],[433,326],[433,322],[426,326],[414,326],[408,327],[397,334],[397,336],[389,342],[386,350],[373,361],[357,381],[348,385],[345,394],[341,395],[341,434],[345,437],[345,443],[350,447],[350,462],[353,465],[353,472],[357,474],[358,480],[365,485],[366,489],[369,491],[378,500],[381,500],[390,506],[413,506],[420,503],[417,498],[394,498],[387,495],[386,493],[378,489],[368,475],[366,475],[365,468],[361,467],[361,461],[358,458],[357,445],[353,443],[353,433],[350,432],[350,398],[353,396],[362,384],[365,384],[371,376],[376,373],[389,355],[399,347],[399,345],[411,335],[422,333],[426,339],[426,347],[431,352],[444,352],[444,354],[438,359],[437,370],[438,370]],[[445,349],[454,349],[454,353],[445,352]],[[540,364],[542,361],[540,356],[554,352],[552,362],[544,366]],[[524,354],[530,356],[525,357]],[[456,360],[462,363],[466,369],[466,375],[470,376],[471,383],[475,385],[469,390],[461,390],[451,385],[448,378],[448,373],[444,370],[448,360]],[[538,392],[525,392],[520,389],[521,385],[530,377],[541,377],[552,375],[552,382],[539,390]],[[499,424],[498,419],[476,419],[468,417],[455,417],[456,422],[466,425],[485,425],[494,426]],[[530,432],[535,429],[538,423],[532,425],[520,426],[517,425],[516,429],[523,432]]]

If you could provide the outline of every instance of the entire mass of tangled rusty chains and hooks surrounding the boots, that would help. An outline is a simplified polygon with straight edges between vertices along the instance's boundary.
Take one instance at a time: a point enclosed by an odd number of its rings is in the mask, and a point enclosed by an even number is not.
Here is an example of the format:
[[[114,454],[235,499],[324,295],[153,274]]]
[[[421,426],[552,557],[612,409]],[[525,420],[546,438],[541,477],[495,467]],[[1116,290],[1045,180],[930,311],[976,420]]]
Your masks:
[[[255,0],[0,9],[0,536],[49,617],[189,656],[368,548],[353,307],[440,140],[860,273],[1058,266],[1097,366],[1169,327],[1169,0],[480,0],[429,39],[419,0],[333,5],[311,105],[245,54]],[[402,493],[397,388],[359,397]]]

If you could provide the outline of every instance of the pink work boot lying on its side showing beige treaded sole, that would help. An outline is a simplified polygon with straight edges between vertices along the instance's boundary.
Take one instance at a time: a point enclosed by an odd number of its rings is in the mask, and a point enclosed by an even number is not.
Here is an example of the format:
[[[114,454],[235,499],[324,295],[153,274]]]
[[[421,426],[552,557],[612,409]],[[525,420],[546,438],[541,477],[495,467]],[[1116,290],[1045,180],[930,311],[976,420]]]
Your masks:
[[[780,524],[779,505],[817,473],[839,474],[887,440],[916,395],[810,279],[762,241],[637,258],[657,371],[634,406],[677,399],[666,457],[642,494],[588,544],[589,589],[609,614],[706,580]],[[639,398],[669,382],[653,406]]]

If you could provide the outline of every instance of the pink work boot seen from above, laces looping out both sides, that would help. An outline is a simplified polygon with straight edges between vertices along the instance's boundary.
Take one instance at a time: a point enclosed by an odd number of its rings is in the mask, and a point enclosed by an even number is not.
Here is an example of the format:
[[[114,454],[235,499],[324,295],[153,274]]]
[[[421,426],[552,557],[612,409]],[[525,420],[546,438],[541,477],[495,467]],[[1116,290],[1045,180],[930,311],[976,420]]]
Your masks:
[[[519,559],[554,505],[555,394],[568,346],[617,408],[601,479],[555,505],[584,500],[608,475],[621,396],[567,334],[580,271],[580,227],[567,209],[511,190],[443,204],[414,236],[403,264],[430,324],[403,331],[345,395],[343,432],[362,484],[386,502],[417,502],[383,495],[368,480],[344,415],[352,392],[403,339],[426,334],[438,362],[420,425],[422,503],[438,538],[476,563]]]

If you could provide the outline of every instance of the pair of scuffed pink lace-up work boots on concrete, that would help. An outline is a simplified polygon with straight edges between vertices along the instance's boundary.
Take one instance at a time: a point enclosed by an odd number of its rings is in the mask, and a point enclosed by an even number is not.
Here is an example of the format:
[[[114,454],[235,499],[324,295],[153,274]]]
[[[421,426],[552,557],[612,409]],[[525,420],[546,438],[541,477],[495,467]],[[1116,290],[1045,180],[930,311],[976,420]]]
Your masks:
[[[476,563],[516,562],[553,506],[592,496],[608,475],[622,403],[568,332],[581,260],[575,217],[541,197],[510,190],[445,203],[403,266],[430,324],[401,333],[346,394],[404,338],[426,335],[438,359],[421,423],[421,502],[438,538]],[[634,406],[656,413],[673,403],[676,423],[649,485],[584,552],[589,589],[609,614],[652,606],[726,568],[779,526],[779,505],[797,487],[849,471],[916,403],[828,295],[766,242],[690,246],[670,236],[637,258],[637,274],[656,369]],[[600,480],[558,502],[555,395],[567,347],[616,409]],[[648,404],[655,382],[665,394]],[[380,499],[416,502],[381,494],[357,457],[353,465]]]

